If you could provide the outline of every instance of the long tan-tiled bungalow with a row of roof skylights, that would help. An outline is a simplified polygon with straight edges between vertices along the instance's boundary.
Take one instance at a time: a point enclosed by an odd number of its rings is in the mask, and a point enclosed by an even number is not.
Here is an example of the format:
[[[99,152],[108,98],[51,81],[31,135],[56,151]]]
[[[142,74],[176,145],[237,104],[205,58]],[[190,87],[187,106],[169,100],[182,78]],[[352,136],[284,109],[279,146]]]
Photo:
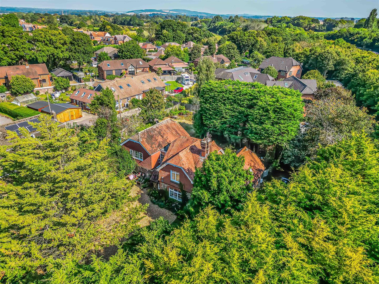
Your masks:
[[[164,96],[166,84],[160,80],[156,73],[140,72],[138,76],[125,75],[125,78],[122,79],[107,80],[104,83],[94,85],[94,91],[100,92],[106,87],[109,87],[113,91],[116,108],[122,109],[128,105],[132,98],[142,100],[145,93],[152,88],[157,89]]]

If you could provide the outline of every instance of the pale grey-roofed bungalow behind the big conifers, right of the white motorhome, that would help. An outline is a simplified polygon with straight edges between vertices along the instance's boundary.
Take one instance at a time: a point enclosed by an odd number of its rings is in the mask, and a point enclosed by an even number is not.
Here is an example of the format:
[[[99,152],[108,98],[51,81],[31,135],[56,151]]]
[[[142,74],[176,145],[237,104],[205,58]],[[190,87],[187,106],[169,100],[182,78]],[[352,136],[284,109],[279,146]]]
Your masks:
[[[240,66],[233,69],[217,68],[215,71],[217,80],[232,79],[241,82],[258,82],[263,85],[267,81],[273,81],[274,78],[268,74],[262,74],[252,67]]]

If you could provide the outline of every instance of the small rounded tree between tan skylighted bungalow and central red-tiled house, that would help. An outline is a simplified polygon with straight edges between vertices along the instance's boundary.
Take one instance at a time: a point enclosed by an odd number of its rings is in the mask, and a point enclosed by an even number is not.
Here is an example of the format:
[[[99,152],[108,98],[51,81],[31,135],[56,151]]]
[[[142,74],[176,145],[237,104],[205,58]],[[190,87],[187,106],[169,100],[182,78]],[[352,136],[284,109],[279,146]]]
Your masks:
[[[145,122],[161,119],[164,111],[164,98],[157,89],[150,89],[146,92],[141,101],[141,112],[139,115]]]

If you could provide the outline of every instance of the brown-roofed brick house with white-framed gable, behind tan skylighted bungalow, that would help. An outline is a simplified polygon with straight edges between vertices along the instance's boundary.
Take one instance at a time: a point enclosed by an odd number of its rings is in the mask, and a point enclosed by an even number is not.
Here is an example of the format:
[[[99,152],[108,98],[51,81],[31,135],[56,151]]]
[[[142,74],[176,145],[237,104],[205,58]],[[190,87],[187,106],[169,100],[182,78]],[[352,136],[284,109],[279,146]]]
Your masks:
[[[106,75],[120,76],[122,72],[129,75],[138,75],[139,72],[149,72],[149,64],[141,58],[105,60],[97,64],[100,80],[105,80]]]

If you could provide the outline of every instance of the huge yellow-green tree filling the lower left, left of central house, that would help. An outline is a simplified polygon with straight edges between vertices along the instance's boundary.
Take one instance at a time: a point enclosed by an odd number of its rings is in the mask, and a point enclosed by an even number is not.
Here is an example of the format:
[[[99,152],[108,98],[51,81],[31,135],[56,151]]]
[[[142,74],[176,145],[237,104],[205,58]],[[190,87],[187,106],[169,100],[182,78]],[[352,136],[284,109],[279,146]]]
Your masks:
[[[117,245],[144,209],[130,197],[133,183],[110,170],[106,140],[80,155],[74,129],[46,114],[39,120],[40,137],[9,133],[13,151],[1,149],[0,258],[8,282],[38,281],[53,261]]]

